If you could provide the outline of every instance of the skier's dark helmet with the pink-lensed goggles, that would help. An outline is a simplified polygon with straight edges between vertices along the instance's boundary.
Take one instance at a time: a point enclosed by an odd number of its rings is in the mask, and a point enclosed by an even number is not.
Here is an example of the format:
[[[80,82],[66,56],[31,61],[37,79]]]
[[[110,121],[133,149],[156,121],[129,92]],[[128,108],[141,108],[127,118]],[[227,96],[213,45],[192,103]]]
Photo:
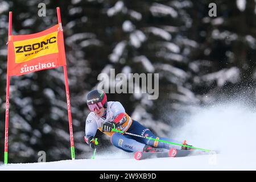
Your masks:
[[[87,106],[90,111],[100,110],[107,107],[106,93],[102,90],[92,90],[87,94]]]

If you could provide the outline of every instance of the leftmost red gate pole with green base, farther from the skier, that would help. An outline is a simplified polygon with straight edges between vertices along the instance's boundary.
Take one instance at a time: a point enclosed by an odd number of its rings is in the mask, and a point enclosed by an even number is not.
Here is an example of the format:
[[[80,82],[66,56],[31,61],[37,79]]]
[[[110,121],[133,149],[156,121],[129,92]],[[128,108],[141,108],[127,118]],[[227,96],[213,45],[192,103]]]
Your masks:
[[[11,25],[12,25],[13,13],[9,12],[9,32],[8,32],[8,42],[11,40]],[[9,95],[10,95],[10,76],[7,69],[6,75],[6,105],[5,105],[5,155],[4,162],[8,164],[8,128],[9,128]]]

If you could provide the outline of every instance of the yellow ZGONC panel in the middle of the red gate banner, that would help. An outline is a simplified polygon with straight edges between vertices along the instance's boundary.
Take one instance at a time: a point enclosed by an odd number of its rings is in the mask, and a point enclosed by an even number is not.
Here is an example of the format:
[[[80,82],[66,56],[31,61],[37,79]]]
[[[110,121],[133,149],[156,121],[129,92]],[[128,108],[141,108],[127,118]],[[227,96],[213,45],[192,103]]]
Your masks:
[[[36,57],[57,53],[57,31],[39,38],[14,42],[15,63],[23,63]]]

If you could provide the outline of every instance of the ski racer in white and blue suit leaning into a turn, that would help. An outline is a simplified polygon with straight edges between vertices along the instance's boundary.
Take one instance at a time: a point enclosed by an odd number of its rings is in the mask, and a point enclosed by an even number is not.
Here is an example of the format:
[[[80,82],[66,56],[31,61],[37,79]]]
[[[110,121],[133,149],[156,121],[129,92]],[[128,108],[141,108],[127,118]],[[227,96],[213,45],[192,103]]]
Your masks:
[[[156,137],[149,129],[126,114],[125,109],[120,102],[108,102],[106,94],[102,90],[96,89],[90,91],[87,95],[87,105],[91,112],[86,118],[84,139],[92,149],[94,149],[98,143],[97,139],[94,138],[98,129],[111,137],[110,141],[115,147],[126,152],[161,152],[163,151],[163,148],[166,148],[167,150],[170,150],[170,148],[190,150],[189,147],[180,147],[169,143],[159,142],[157,140],[123,134],[127,132],[143,137],[182,143],[169,138]],[[117,129],[123,133],[112,131],[112,129]],[[183,145],[188,146],[185,140]]]

